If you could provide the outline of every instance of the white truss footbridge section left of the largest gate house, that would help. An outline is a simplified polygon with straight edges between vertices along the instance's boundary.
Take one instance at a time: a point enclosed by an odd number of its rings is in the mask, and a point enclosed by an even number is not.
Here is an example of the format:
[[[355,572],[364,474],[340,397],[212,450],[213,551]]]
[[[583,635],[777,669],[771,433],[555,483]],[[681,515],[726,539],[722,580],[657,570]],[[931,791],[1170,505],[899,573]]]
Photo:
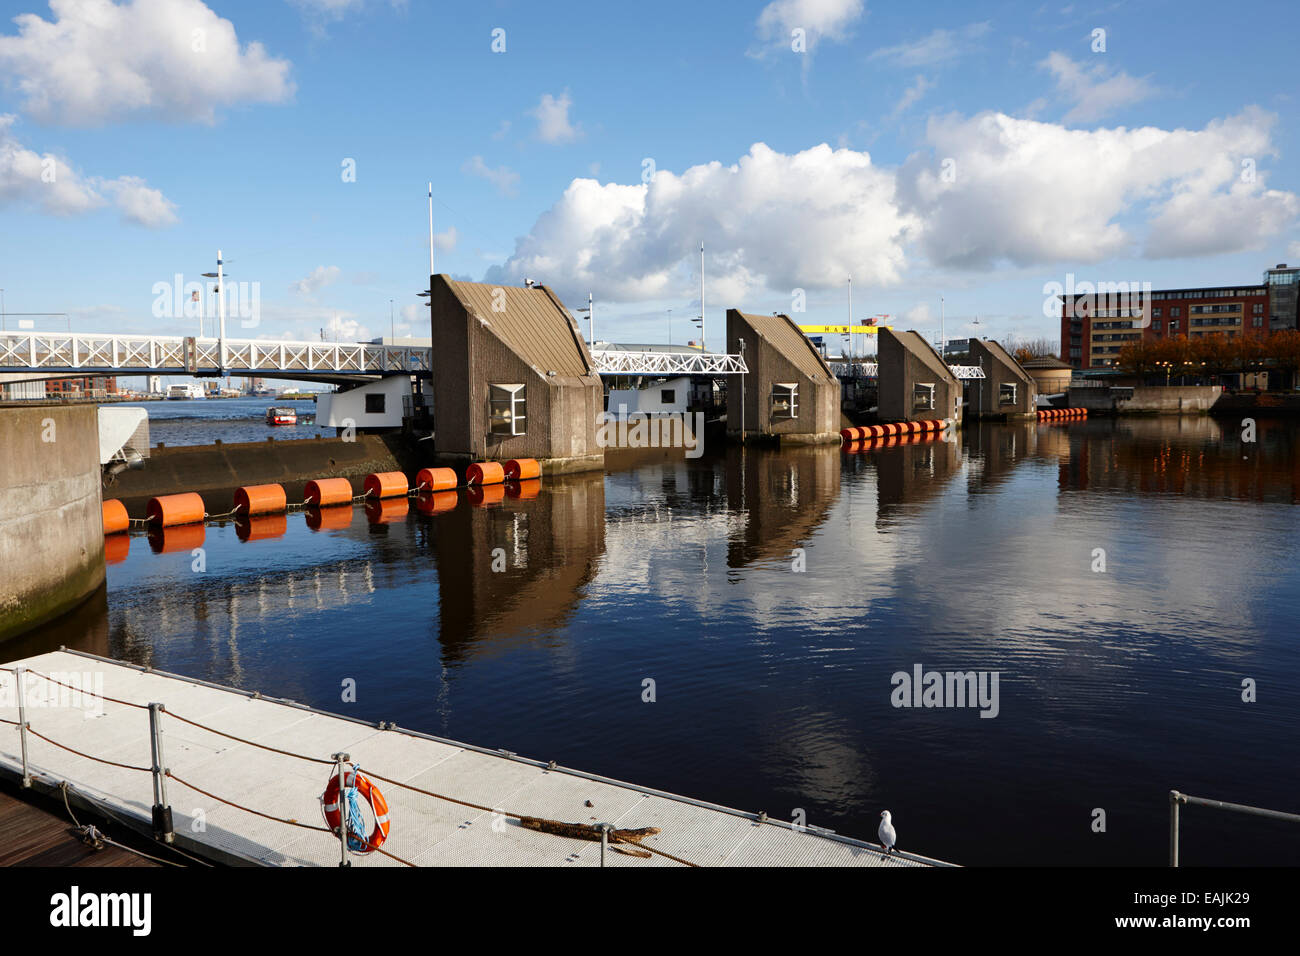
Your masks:
[[[342,342],[0,332],[0,372],[64,375],[239,375],[303,381],[428,376],[432,349]],[[10,380],[17,380],[6,376]]]

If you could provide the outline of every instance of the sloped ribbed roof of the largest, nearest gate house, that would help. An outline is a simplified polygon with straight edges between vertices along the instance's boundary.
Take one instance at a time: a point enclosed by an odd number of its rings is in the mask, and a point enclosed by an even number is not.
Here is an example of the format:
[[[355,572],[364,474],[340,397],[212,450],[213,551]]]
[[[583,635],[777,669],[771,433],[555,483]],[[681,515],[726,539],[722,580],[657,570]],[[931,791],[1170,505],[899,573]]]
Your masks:
[[[572,316],[546,286],[524,289],[450,278],[447,285],[467,312],[542,375],[594,375]],[[494,311],[494,304],[500,311]]]

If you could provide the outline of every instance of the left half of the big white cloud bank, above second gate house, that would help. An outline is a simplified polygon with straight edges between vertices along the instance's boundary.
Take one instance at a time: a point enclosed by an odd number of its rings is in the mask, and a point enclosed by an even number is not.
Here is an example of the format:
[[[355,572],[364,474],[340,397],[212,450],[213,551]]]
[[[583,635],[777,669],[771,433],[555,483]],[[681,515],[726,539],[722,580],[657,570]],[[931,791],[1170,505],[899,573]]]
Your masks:
[[[898,208],[892,173],[867,153],[822,144],[785,155],[755,143],[733,165],[660,169],[650,183],[573,179],[488,281],[530,276],[563,295],[649,299],[676,289],[705,241],[715,294],[788,293],[850,273],[890,284],[916,226]]]

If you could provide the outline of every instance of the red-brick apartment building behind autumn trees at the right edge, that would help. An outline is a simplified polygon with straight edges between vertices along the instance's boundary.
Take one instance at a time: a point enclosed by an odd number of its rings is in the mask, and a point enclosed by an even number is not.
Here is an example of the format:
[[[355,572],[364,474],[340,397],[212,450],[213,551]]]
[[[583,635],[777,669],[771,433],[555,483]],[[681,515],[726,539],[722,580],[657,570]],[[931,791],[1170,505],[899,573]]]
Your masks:
[[[1117,363],[1119,350],[1138,339],[1265,337],[1295,329],[1297,280],[1300,268],[1279,263],[1264,273],[1260,285],[1160,289],[1152,290],[1149,303],[1108,303],[1105,295],[1075,295],[1071,308],[1062,297],[1061,358],[1071,368],[1109,368]],[[1147,328],[1141,328],[1143,304],[1150,307]]]

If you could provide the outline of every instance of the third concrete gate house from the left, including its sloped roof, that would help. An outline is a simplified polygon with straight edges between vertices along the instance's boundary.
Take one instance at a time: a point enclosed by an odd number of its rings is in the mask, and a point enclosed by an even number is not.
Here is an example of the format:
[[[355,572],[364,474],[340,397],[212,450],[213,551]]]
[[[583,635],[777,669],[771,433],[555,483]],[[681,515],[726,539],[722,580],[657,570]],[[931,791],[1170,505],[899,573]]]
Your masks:
[[[881,421],[962,420],[962,384],[916,332],[880,329]]]

